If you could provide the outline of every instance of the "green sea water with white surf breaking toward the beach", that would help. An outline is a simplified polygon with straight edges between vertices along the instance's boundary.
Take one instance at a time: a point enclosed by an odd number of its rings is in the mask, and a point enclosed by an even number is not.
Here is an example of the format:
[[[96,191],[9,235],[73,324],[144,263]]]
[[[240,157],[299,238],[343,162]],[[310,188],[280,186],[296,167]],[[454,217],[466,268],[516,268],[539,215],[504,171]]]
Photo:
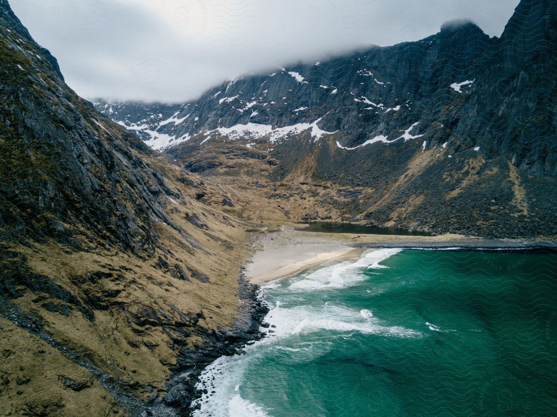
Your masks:
[[[544,251],[380,249],[273,282],[196,415],[557,415],[556,279]]]

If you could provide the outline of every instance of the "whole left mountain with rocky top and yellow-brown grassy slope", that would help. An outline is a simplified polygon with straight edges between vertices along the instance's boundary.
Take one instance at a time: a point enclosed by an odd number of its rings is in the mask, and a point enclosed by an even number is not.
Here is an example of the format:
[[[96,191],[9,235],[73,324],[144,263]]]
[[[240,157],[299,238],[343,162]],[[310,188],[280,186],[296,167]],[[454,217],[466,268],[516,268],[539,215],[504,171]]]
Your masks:
[[[0,53],[3,413],[187,408],[172,372],[257,337],[241,199],[77,96],[6,0]]]

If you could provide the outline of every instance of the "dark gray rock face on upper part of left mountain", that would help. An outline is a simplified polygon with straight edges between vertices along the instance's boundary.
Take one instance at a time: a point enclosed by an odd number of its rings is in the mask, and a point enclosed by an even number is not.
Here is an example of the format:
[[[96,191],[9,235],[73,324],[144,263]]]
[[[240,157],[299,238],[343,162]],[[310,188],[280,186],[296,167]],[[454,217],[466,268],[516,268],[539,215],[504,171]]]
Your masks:
[[[4,0],[0,12],[0,237],[152,252],[151,224],[172,224],[162,197],[175,194],[141,158],[152,150],[65,85]]]

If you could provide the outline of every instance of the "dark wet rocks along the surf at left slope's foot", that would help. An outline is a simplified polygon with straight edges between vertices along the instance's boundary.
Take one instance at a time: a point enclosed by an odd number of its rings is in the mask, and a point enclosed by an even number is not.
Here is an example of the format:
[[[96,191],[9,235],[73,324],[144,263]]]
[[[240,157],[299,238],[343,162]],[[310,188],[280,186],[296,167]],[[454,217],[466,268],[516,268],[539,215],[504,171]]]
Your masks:
[[[238,300],[241,307],[233,325],[223,327],[219,331],[199,329],[203,344],[196,350],[180,350],[174,372],[163,386],[166,394],[163,397],[155,391],[140,414],[141,417],[188,417],[195,409],[201,408],[201,404],[196,408],[190,406],[203,395],[212,395],[207,387],[202,390],[196,388],[203,369],[220,356],[241,355],[242,347],[246,343],[266,336],[266,332],[259,329],[269,310],[258,299],[259,291],[260,287],[250,283],[241,272],[238,283]]]

